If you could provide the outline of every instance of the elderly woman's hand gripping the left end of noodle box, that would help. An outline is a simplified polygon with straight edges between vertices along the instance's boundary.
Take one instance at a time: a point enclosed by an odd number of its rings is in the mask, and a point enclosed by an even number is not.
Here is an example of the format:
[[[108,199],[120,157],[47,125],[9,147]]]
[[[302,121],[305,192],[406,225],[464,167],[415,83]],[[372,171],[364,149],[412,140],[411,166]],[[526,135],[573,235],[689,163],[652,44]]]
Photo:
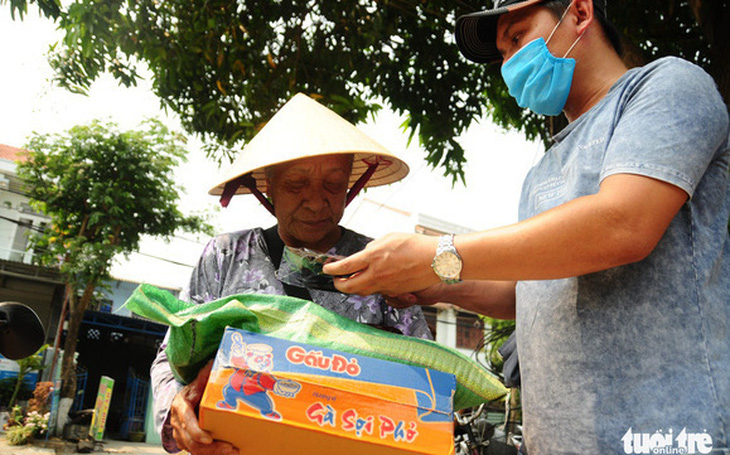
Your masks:
[[[170,424],[175,442],[182,450],[193,455],[238,455],[238,450],[227,442],[214,441],[207,431],[200,428],[196,409],[208,384],[213,359],[200,370],[193,382],[186,385],[172,400]]]

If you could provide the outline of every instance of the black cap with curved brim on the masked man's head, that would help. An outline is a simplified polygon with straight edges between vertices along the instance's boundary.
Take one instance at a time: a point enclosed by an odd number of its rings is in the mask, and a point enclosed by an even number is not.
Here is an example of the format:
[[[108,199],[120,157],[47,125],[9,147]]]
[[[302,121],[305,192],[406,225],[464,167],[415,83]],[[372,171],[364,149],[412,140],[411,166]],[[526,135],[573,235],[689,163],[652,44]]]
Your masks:
[[[497,21],[499,16],[548,0],[495,0],[494,8],[487,11],[464,14],[456,19],[456,44],[464,57],[477,63],[494,63],[502,60],[497,50]],[[570,0],[563,0],[569,4]],[[606,0],[593,0],[595,11],[606,15]]]

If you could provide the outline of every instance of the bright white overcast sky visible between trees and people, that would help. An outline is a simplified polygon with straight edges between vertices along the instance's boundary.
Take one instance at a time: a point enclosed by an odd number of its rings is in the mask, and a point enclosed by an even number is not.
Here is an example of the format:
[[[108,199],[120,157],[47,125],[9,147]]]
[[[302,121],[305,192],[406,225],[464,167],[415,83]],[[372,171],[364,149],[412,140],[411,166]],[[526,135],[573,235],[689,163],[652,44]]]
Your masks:
[[[11,20],[9,5],[0,5],[0,143],[22,147],[29,135],[59,133],[94,119],[113,121],[122,130],[136,128],[146,118],[159,118],[182,131],[174,114],[161,110],[149,80],[137,87],[120,87],[109,75],[96,81],[88,96],[54,86],[46,59],[48,48],[61,35],[55,25],[31,5],[23,21]],[[373,139],[409,164],[411,172],[401,182],[371,188],[353,201],[342,224],[372,237],[412,229],[418,215],[437,218],[469,230],[485,230],[517,220],[517,204],[524,176],[540,158],[543,147],[528,142],[518,132],[506,132],[488,120],[474,124],[457,140],[466,151],[466,186],[452,185],[441,169],[425,162],[416,140],[410,146],[399,129],[403,118],[387,111],[374,121],[358,125]],[[236,196],[225,210],[207,190],[216,183],[218,165],[205,157],[201,144],[190,138],[188,161],[175,171],[183,189],[183,211],[210,214],[217,232],[273,225],[274,218],[252,196]],[[168,275],[161,285],[186,279],[207,238],[183,235],[172,244],[145,239],[140,252],[120,260],[113,273],[131,280],[146,267],[155,269],[164,258]],[[140,264],[145,263],[145,267]],[[185,264],[185,265],[181,265]],[[161,272],[162,273],[162,272]],[[184,278],[180,278],[180,276]]]

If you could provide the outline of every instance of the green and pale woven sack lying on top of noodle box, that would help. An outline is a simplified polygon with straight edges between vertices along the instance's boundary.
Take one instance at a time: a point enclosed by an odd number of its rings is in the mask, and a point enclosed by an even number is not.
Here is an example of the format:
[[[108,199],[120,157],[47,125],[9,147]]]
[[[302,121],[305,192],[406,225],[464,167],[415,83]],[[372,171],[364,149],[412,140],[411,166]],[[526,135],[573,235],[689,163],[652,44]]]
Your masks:
[[[507,389],[488,370],[455,349],[360,324],[294,297],[240,294],[196,305],[142,284],[125,303],[132,312],[170,326],[166,353],[176,378],[195,379],[213,357],[226,326],[351,354],[417,365],[456,377],[454,409],[504,396]]]

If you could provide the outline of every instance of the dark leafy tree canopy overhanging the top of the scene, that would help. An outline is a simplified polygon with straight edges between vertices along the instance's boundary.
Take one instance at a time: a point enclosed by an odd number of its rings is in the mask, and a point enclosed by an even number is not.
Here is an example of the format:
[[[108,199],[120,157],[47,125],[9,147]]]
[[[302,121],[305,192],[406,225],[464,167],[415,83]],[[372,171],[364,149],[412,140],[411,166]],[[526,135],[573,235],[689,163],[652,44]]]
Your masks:
[[[707,69],[727,100],[728,1],[608,6],[631,64],[679,55]],[[105,71],[134,85],[143,62],[162,104],[218,159],[298,91],[354,122],[382,100],[406,115],[427,161],[457,179],[464,151],[454,138],[481,116],[546,144],[559,128],[520,109],[497,66],[459,55],[455,18],[483,8],[473,0],[75,0],[60,13],[65,38],[51,64],[60,85],[84,92]]]

